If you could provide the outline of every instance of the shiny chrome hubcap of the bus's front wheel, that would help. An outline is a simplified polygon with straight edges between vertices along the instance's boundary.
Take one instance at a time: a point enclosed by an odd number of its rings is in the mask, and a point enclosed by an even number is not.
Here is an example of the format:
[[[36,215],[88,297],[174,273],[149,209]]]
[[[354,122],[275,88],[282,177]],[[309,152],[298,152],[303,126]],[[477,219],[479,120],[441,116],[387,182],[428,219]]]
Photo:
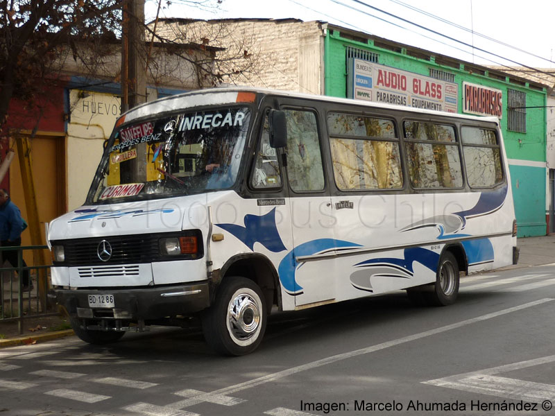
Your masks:
[[[248,340],[260,325],[260,309],[248,293],[240,293],[230,302],[228,327],[237,340]]]

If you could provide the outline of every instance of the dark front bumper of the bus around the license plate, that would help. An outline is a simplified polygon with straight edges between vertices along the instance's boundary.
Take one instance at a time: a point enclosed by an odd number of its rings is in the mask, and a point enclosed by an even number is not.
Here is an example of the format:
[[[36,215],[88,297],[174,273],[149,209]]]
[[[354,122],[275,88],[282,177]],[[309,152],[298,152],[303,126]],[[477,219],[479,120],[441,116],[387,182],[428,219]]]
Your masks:
[[[91,308],[88,295],[114,296],[114,308]],[[189,315],[210,306],[207,282],[152,288],[58,289],[49,292],[51,300],[63,306],[72,318],[114,320],[157,320]]]

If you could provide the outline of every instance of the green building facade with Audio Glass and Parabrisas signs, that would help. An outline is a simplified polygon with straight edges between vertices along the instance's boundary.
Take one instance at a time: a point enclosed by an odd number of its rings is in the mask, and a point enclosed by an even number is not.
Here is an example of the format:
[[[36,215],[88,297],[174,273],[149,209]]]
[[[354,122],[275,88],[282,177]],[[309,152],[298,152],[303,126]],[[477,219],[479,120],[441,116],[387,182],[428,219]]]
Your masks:
[[[327,26],[323,49],[328,96],[499,116],[518,236],[546,234],[544,85],[339,26]]]

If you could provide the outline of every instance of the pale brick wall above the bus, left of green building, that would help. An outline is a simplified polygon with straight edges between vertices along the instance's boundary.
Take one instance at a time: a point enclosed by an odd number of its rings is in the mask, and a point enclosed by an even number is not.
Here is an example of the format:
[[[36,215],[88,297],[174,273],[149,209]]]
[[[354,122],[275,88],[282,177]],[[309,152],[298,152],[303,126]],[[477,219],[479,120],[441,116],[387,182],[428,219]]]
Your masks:
[[[157,33],[182,42],[208,42],[223,47],[216,59],[241,55],[253,60],[253,71],[223,80],[272,89],[324,94],[323,29],[318,21],[227,19],[223,21],[159,21]],[[243,58],[241,58],[243,59]]]

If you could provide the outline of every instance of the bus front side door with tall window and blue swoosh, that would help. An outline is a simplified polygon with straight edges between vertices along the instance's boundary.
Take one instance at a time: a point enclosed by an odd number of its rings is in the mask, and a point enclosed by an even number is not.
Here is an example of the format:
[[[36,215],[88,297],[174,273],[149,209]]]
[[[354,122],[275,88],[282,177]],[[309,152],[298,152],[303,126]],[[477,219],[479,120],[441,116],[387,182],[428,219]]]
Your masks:
[[[293,252],[280,265],[280,279],[294,288],[295,305],[332,301],[336,278],[334,219],[325,180],[318,113],[283,107],[287,118],[287,166]]]

